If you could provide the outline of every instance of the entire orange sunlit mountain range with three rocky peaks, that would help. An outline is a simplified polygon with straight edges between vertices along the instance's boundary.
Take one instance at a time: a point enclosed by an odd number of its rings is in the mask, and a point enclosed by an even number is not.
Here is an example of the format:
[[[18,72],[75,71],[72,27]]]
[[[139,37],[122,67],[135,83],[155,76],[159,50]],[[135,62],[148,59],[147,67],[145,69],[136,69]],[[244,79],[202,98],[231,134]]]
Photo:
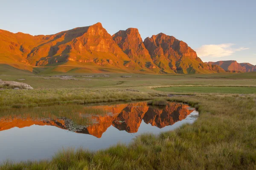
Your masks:
[[[0,67],[34,73],[220,73],[204,63],[185,42],[163,33],[144,41],[137,28],[112,36],[101,23],[53,35],[32,36],[0,30]],[[253,71],[250,65],[242,66]]]

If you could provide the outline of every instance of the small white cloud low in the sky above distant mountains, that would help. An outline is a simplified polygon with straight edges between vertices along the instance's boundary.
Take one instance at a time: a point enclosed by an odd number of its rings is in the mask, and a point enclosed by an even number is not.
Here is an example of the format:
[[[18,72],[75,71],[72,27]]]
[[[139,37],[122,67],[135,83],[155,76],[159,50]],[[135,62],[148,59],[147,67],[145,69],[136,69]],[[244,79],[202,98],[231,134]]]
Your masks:
[[[212,45],[202,45],[200,48],[195,49],[198,57],[225,57],[234,54],[236,51],[247,50],[249,48],[232,48],[235,44],[212,44]]]

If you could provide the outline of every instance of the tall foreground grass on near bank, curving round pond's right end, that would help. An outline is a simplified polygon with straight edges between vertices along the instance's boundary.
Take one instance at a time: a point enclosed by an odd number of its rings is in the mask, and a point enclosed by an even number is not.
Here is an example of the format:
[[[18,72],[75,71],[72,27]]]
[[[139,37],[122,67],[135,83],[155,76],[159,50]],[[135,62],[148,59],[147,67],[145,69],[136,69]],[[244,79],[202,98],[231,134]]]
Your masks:
[[[197,94],[169,98],[200,113],[192,125],[145,134],[107,150],[63,150],[50,161],[6,162],[3,170],[256,169],[256,95]]]

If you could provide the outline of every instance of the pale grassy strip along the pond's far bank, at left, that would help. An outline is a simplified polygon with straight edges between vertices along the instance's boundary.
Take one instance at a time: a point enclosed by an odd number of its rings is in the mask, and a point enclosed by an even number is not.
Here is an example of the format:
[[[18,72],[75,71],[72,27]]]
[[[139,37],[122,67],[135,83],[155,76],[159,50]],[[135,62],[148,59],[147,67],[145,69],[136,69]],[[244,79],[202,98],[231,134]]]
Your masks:
[[[126,90],[108,89],[58,89],[58,90],[0,90],[0,109],[32,108],[68,103],[85,104],[92,102],[112,102],[147,100],[159,96]]]

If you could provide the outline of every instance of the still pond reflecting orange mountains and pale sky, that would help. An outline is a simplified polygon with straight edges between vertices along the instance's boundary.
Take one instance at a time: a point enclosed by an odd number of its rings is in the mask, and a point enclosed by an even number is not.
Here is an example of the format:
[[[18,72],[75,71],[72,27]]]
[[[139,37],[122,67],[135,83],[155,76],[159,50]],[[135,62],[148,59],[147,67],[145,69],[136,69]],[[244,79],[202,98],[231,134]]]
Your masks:
[[[137,135],[173,130],[198,116],[194,108],[174,102],[163,107],[146,102],[68,107],[41,116],[27,111],[0,117],[0,161],[50,159],[67,147],[99,150],[128,144]]]

